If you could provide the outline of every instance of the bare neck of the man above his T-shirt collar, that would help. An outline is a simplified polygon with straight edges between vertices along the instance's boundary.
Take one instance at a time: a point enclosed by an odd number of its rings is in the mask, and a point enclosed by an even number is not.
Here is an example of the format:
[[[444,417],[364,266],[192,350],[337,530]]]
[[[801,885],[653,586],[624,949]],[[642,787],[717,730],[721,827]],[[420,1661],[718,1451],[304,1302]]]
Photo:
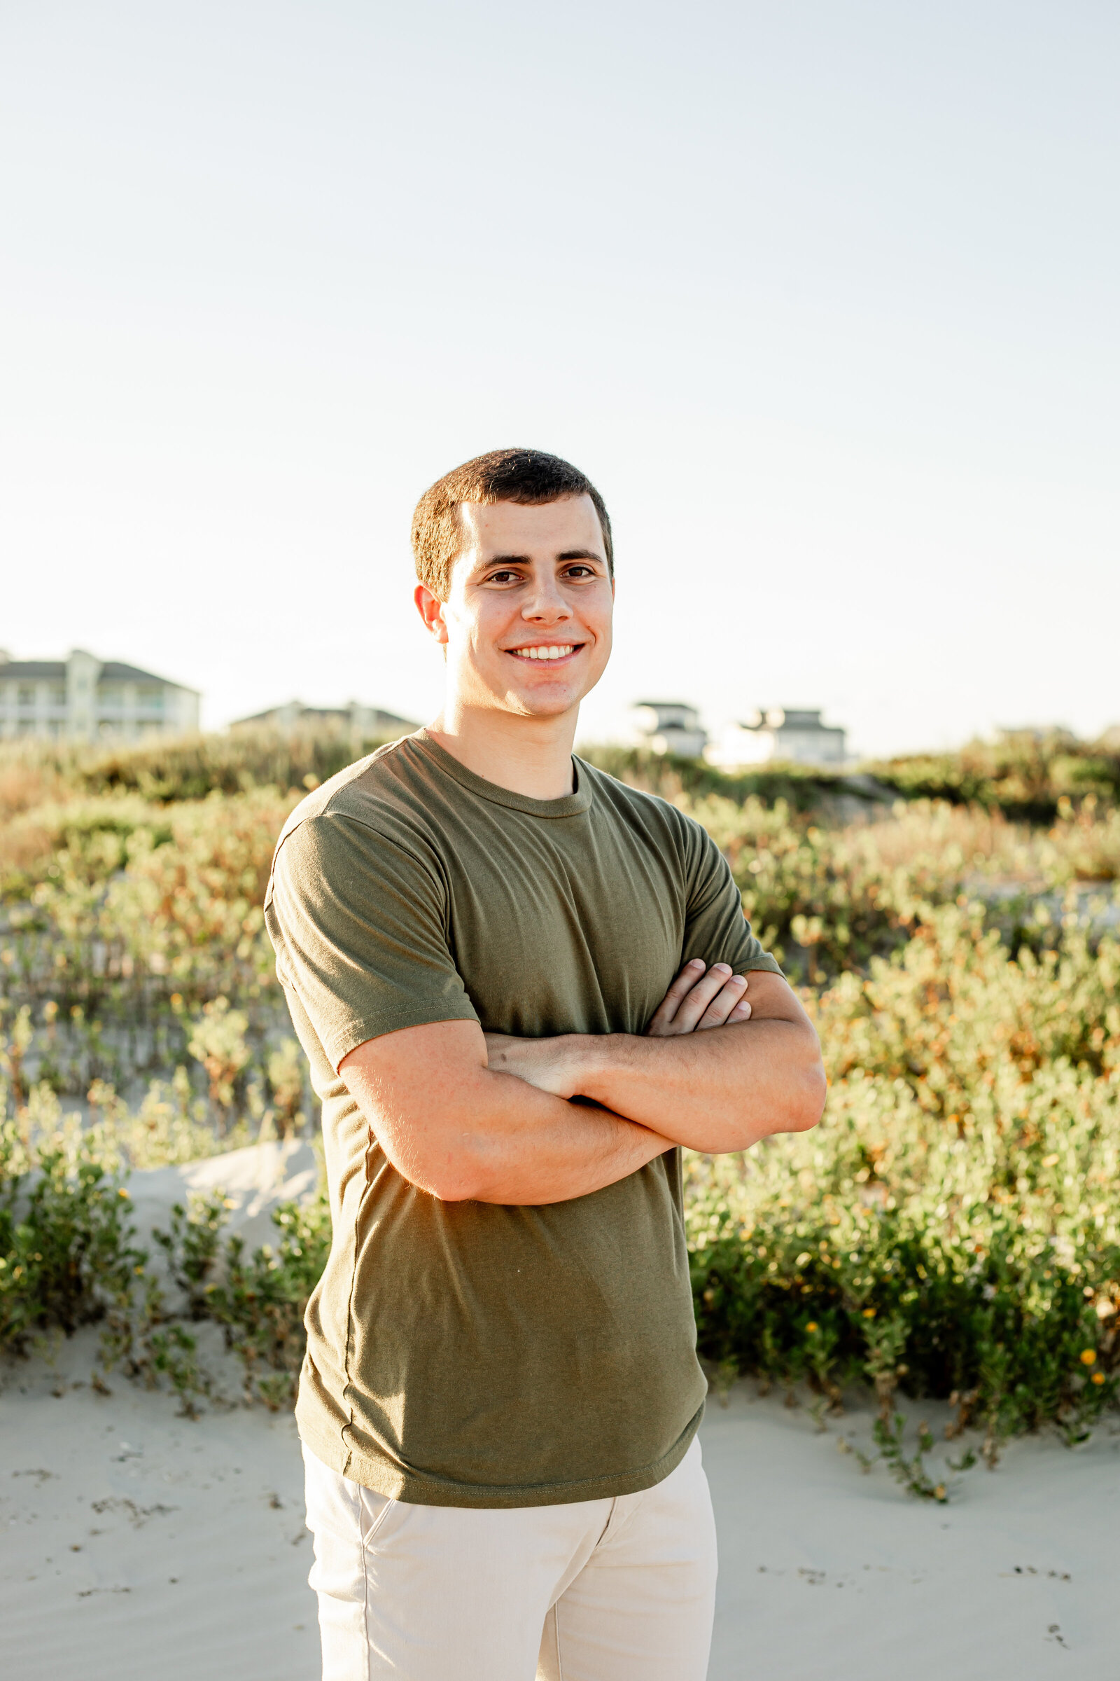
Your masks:
[[[428,725],[428,735],[475,777],[499,788],[529,800],[561,800],[573,792],[571,746],[578,718],[578,706],[559,718],[522,718],[450,701]]]

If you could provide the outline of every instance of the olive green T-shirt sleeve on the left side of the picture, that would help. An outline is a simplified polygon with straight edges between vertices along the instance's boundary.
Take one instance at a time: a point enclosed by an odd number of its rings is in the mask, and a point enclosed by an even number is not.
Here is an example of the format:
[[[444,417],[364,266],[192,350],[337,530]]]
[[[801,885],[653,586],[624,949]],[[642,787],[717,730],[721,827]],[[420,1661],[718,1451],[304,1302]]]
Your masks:
[[[326,812],[284,835],[265,923],[280,982],[336,1071],[366,1039],[479,1020],[448,950],[438,869],[368,824]]]

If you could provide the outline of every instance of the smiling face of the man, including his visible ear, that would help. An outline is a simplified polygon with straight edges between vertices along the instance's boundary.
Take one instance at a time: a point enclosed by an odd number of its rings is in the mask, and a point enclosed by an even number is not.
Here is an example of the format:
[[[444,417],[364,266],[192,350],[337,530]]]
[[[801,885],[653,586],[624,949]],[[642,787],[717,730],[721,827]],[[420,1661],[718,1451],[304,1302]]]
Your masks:
[[[611,652],[615,585],[594,503],[465,503],[460,523],[447,602],[416,587],[425,624],[447,644],[453,691],[524,718],[578,706]]]

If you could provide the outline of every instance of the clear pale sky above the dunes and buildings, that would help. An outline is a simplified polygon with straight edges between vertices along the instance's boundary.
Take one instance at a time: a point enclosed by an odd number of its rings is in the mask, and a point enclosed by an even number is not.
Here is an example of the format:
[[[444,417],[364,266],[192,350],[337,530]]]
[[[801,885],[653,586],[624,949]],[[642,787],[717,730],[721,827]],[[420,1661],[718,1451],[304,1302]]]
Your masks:
[[[0,8],[0,646],[430,716],[416,496],[611,508],[584,703],[1120,719],[1108,0]]]

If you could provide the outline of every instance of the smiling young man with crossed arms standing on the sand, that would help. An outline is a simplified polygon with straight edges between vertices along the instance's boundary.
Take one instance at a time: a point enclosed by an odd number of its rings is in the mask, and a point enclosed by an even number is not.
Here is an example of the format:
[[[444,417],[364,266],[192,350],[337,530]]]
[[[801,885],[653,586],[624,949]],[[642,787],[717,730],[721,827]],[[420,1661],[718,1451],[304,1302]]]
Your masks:
[[[680,1145],[816,1125],[816,1034],[700,825],[573,758],[598,491],[495,451],[413,548],[443,711],[296,809],[265,901],[334,1220],[296,1409],[324,1681],[702,1681]]]

